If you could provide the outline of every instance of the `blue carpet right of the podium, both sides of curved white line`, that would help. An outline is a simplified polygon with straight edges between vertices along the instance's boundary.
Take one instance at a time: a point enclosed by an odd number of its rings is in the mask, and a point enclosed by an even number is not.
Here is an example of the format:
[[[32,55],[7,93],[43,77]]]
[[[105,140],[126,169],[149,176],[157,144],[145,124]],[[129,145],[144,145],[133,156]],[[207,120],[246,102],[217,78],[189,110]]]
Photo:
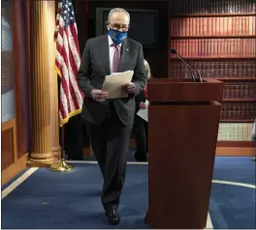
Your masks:
[[[249,157],[215,158],[213,180],[256,185],[255,161]],[[212,184],[209,214],[214,228],[256,228],[255,192],[250,187]]]

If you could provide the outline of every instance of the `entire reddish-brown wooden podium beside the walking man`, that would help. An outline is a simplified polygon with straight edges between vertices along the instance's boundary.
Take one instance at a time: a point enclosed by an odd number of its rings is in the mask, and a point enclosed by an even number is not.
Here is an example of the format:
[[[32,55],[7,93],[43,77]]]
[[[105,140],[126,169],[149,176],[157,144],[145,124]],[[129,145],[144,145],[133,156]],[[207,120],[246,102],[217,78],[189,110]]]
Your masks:
[[[203,229],[218,135],[223,83],[152,79],[148,101],[150,228]]]

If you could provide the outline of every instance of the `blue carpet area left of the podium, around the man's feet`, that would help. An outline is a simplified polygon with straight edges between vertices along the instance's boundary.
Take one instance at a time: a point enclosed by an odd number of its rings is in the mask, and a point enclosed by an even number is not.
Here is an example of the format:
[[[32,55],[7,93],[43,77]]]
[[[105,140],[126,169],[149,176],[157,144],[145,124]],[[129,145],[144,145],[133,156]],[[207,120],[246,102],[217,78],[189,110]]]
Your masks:
[[[66,174],[40,168],[2,200],[2,227],[110,228],[100,202],[102,182],[95,164],[78,164]],[[116,228],[146,228],[146,205],[147,166],[128,165]]]

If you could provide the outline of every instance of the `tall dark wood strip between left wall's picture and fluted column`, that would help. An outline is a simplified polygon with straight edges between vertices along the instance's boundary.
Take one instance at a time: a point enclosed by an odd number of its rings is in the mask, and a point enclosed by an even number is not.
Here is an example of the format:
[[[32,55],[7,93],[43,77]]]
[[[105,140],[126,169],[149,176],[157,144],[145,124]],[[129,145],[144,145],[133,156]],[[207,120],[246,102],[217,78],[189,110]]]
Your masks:
[[[14,49],[16,89],[17,158],[29,150],[29,89],[26,35],[26,1],[14,1]]]

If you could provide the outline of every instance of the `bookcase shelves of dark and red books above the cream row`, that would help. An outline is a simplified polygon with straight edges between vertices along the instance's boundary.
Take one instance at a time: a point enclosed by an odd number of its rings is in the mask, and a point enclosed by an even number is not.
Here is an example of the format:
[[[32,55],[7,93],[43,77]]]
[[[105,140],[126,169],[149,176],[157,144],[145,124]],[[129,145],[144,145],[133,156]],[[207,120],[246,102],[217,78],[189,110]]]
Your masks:
[[[256,1],[179,0],[170,6],[170,48],[203,77],[225,82],[221,122],[256,117]],[[169,77],[190,77],[175,55]]]

